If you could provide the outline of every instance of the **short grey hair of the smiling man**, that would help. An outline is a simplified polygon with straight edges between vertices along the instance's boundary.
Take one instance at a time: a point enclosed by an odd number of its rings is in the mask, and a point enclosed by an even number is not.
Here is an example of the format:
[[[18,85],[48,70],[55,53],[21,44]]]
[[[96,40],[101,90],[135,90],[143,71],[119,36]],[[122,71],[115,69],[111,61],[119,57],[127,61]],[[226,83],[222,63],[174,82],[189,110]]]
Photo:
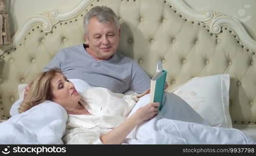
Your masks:
[[[118,17],[114,13],[114,11],[107,6],[96,6],[87,12],[84,17],[84,34],[88,33],[87,28],[89,24],[89,20],[93,17],[96,17],[99,22],[111,22],[113,21],[117,27],[117,30],[120,28],[120,24],[118,22]]]

